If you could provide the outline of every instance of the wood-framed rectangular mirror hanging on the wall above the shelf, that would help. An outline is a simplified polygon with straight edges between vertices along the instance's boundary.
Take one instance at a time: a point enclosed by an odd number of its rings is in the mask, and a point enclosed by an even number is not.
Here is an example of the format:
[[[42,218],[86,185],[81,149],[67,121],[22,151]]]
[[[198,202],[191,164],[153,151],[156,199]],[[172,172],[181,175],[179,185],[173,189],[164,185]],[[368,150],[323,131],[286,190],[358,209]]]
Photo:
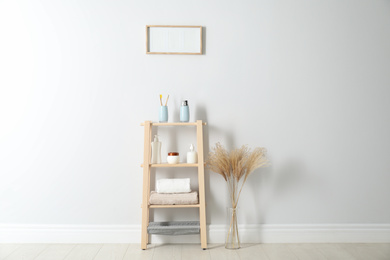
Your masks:
[[[202,26],[146,25],[146,54],[202,55]]]

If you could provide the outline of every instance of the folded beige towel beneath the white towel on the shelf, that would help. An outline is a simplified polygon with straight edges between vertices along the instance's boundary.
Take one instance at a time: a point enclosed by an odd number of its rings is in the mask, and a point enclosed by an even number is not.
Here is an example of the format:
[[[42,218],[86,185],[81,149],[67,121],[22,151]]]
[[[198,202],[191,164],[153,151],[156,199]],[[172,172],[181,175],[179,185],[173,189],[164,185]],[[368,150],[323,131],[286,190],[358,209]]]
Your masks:
[[[198,192],[189,193],[150,193],[149,203],[151,205],[187,205],[198,204]]]

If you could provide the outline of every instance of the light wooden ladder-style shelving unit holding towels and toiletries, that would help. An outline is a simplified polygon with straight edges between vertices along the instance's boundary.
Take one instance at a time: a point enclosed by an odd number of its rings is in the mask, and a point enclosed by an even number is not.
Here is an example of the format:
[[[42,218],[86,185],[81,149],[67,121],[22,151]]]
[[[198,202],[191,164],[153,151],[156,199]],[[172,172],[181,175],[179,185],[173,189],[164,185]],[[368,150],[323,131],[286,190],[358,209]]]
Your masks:
[[[200,243],[203,249],[207,248],[207,236],[206,236],[206,200],[205,200],[205,187],[204,187],[204,157],[203,157],[203,126],[206,123],[202,120],[197,120],[191,123],[153,123],[151,121],[145,121],[141,123],[144,126],[144,162],[141,165],[143,167],[143,195],[142,195],[142,231],[141,231],[141,248],[146,249],[149,242],[148,226],[149,226],[149,210],[159,208],[199,208],[199,227],[200,227]],[[151,142],[152,142],[152,127],[154,126],[195,126],[196,127],[196,139],[198,148],[198,163],[188,164],[151,164]],[[145,167],[146,166],[146,167]],[[198,183],[199,183],[199,204],[191,205],[150,205],[150,169],[151,168],[167,168],[167,167],[197,167],[198,168]]]

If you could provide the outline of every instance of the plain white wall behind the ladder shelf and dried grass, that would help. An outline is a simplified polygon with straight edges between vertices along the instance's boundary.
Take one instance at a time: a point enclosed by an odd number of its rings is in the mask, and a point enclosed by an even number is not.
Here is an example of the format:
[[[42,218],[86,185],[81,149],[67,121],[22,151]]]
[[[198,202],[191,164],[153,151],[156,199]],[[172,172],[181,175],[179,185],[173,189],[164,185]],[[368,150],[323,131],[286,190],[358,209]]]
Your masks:
[[[385,0],[1,1],[0,223],[140,225],[140,123],[170,94],[171,120],[188,99],[208,122],[207,151],[268,148],[240,223],[390,224],[389,12]],[[205,54],[146,55],[147,24],[204,26]],[[194,140],[160,134],[164,152]],[[208,223],[224,224],[225,183],[206,174]]]

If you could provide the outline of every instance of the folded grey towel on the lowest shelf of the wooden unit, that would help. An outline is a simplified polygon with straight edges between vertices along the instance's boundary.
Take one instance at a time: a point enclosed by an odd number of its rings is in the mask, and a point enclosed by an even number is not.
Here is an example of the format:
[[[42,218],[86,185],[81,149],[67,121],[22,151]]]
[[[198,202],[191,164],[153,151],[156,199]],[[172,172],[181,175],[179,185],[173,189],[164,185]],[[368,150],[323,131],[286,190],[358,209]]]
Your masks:
[[[200,233],[199,221],[150,222],[148,233],[154,235],[193,235]]]

